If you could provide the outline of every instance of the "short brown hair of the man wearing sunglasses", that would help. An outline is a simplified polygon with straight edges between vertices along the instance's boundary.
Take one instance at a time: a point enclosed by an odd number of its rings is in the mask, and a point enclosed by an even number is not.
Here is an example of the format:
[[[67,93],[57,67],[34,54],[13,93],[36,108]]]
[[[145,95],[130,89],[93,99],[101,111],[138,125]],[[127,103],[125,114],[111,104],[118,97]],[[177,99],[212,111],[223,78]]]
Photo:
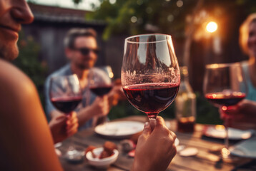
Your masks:
[[[67,35],[64,38],[64,46],[66,48],[74,48],[74,41],[80,36],[92,36],[97,39],[97,32],[93,28],[72,28],[67,32]]]

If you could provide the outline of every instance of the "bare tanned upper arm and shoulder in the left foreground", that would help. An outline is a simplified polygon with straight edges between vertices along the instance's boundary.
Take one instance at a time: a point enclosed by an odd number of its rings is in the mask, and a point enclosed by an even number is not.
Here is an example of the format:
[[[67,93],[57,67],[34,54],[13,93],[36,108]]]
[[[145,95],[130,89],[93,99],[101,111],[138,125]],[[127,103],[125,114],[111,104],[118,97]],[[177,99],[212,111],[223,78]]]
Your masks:
[[[0,60],[0,165],[7,170],[62,170],[34,83]]]

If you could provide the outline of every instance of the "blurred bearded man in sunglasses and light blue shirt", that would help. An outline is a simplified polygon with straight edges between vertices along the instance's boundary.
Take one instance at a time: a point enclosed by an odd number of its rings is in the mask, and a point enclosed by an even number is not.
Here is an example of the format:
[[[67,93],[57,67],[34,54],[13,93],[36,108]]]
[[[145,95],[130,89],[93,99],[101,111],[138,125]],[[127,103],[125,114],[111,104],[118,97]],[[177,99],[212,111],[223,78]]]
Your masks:
[[[76,109],[79,120],[79,128],[90,128],[95,126],[97,119],[106,116],[112,105],[116,105],[123,92],[120,84],[112,88],[109,94],[97,97],[88,88],[89,69],[94,67],[97,61],[99,48],[97,46],[97,33],[92,28],[72,28],[64,39],[65,54],[70,63],[51,73],[45,82],[46,115],[54,118],[64,115],[51,104],[49,97],[50,80],[54,76],[69,76],[77,74],[83,90],[82,103]],[[113,99],[114,98],[114,99]]]

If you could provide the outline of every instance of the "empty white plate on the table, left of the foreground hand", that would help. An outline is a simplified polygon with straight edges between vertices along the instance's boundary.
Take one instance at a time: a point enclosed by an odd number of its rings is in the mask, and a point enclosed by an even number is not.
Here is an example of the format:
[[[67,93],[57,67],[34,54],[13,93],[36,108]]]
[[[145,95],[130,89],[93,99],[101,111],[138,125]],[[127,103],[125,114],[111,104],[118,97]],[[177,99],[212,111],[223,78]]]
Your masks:
[[[129,138],[143,130],[144,123],[134,121],[117,121],[98,125],[95,133],[110,138]]]

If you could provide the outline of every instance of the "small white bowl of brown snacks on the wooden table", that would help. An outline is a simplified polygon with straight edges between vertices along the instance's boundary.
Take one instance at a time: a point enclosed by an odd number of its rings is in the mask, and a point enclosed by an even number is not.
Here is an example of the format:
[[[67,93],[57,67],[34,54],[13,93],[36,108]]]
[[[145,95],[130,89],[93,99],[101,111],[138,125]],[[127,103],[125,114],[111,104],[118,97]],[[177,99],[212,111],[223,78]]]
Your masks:
[[[113,142],[105,142],[103,147],[89,146],[86,157],[89,165],[97,168],[107,168],[117,160],[119,152]]]

